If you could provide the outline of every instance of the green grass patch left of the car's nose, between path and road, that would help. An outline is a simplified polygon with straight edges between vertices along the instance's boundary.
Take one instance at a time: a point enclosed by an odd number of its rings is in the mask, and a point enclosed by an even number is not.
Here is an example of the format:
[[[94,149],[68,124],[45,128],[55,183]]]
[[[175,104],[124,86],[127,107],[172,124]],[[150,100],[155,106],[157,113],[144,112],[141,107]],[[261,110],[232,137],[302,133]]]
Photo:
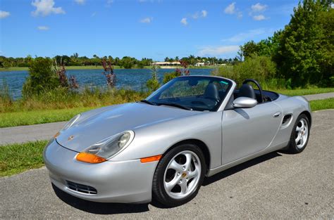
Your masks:
[[[0,146],[0,177],[19,174],[44,165],[42,153],[47,141]]]

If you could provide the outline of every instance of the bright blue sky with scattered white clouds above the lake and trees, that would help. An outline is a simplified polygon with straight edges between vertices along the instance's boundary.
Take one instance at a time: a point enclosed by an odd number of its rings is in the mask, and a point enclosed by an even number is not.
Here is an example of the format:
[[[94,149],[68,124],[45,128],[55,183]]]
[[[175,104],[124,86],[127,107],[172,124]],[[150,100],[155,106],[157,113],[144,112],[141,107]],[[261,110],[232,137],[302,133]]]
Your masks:
[[[234,58],[297,0],[0,0],[0,55]]]

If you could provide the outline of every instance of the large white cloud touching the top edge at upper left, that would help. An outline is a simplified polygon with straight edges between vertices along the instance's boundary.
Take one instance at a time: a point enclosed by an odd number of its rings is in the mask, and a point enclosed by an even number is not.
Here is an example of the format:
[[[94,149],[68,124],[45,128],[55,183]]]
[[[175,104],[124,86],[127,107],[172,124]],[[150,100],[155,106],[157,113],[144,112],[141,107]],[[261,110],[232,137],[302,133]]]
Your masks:
[[[51,13],[64,14],[63,8],[54,7],[54,0],[35,0],[32,1],[32,6],[36,7],[35,11],[32,11],[32,15],[42,15],[47,16]]]

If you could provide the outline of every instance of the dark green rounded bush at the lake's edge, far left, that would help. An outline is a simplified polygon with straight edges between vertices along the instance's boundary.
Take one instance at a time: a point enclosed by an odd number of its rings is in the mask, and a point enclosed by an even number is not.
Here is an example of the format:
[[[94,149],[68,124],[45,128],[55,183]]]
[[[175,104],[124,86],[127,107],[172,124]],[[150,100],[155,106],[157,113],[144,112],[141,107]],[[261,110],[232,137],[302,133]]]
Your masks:
[[[59,78],[53,70],[50,58],[35,58],[30,61],[29,77],[23,85],[23,97],[39,94],[60,86]]]

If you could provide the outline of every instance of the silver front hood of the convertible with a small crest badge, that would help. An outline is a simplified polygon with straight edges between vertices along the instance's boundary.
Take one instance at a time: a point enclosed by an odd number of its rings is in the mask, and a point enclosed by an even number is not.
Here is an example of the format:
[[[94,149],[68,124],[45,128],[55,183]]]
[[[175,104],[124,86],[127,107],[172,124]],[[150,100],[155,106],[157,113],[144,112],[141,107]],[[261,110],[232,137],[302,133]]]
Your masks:
[[[78,122],[61,131],[56,141],[65,148],[80,152],[104,138],[178,117],[199,114],[166,105],[126,103],[85,112]]]

